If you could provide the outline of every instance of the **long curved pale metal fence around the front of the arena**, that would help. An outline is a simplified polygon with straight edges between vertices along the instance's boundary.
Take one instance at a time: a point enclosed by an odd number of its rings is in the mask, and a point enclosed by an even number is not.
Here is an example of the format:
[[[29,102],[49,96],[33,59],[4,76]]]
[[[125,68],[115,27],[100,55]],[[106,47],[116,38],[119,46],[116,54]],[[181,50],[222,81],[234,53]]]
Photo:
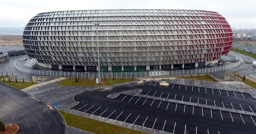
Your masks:
[[[200,74],[200,73],[210,73],[216,71],[222,71],[231,69],[241,64],[241,61],[236,63],[222,66],[222,67],[212,67],[212,68],[205,68],[205,69],[192,69],[192,70],[177,70],[177,71],[163,71],[162,75],[154,75],[155,76],[174,76],[174,75],[192,75],[192,74]],[[26,69],[19,67],[14,62],[14,66],[16,69],[22,72],[31,73],[35,75],[44,75],[44,76],[56,76],[56,77],[98,77],[98,73],[87,73],[87,72],[61,72],[61,71],[43,71],[43,70],[33,70],[33,69]],[[101,73],[102,78],[112,78],[112,77],[151,77],[150,72],[129,72],[129,73]]]

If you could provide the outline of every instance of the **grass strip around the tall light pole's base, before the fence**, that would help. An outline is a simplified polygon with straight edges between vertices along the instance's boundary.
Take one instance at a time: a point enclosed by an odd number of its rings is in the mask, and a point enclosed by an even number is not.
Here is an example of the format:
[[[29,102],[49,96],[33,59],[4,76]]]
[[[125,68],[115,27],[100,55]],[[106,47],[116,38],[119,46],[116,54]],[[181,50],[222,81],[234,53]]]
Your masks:
[[[114,80],[112,79],[112,83],[111,83],[111,79],[110,78],[101,78],[101,83],[100,84],[96,84],[96,80],[95,79],[86,79],[86,78],[80,78],[78,79],[78,82],[76,83],[76,79],[75,78],[67,78],[63,81],[60,81],[60,83],[57,83],[56,85],[62,85],[62,86],[106,86],[106,85],[111,85],[111,84],[117,84],[117,83],[124,83],[124,82],[128,82],[128,81],[135,81],[135,78],[115,78]]]

